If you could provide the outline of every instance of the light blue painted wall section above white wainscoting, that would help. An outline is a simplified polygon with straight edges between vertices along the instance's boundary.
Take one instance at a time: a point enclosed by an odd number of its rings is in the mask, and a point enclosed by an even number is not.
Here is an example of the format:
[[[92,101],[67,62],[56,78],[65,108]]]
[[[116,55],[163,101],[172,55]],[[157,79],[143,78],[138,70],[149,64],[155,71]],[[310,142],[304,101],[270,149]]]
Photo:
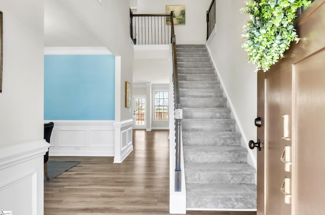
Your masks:
[[[114,119],[114,55],[45,55],[44,120]]]

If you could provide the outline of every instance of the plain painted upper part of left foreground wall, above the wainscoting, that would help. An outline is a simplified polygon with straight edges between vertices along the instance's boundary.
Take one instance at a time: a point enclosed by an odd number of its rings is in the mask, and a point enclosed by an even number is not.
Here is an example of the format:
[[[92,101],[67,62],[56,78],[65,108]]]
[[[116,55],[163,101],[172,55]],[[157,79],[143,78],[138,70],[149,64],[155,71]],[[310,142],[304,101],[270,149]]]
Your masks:
[[[0,147],[43,139],[44,4],[5,1]]]

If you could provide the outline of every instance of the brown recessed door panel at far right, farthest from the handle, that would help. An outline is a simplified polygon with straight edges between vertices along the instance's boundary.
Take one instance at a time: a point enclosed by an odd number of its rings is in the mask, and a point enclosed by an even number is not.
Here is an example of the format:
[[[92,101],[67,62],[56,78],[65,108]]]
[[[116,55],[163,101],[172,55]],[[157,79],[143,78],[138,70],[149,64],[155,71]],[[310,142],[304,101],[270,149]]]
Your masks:
[[[296,214],[323,214],[325,50],[296,65]]]

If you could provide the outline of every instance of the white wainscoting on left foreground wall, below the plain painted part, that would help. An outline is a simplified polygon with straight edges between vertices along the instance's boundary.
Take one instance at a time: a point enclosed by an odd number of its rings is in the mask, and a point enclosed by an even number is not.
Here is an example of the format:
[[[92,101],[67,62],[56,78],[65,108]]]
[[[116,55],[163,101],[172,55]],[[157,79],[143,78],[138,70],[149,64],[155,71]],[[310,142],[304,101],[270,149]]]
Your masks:
[[[44,214],[45,140],[0,148],[0,210]]]

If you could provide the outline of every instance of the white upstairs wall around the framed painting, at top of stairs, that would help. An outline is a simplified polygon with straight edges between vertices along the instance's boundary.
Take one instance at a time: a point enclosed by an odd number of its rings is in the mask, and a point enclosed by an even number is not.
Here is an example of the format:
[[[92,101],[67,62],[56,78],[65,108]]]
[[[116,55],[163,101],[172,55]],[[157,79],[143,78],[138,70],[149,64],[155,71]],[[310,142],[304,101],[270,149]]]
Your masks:
[[[211,0],[138,0],[138,14],[166,13],[166,5],[185,5],[185,25],[176,25],[177,44],[205,44]],[[170,12],[169,12],[170,13]]]

